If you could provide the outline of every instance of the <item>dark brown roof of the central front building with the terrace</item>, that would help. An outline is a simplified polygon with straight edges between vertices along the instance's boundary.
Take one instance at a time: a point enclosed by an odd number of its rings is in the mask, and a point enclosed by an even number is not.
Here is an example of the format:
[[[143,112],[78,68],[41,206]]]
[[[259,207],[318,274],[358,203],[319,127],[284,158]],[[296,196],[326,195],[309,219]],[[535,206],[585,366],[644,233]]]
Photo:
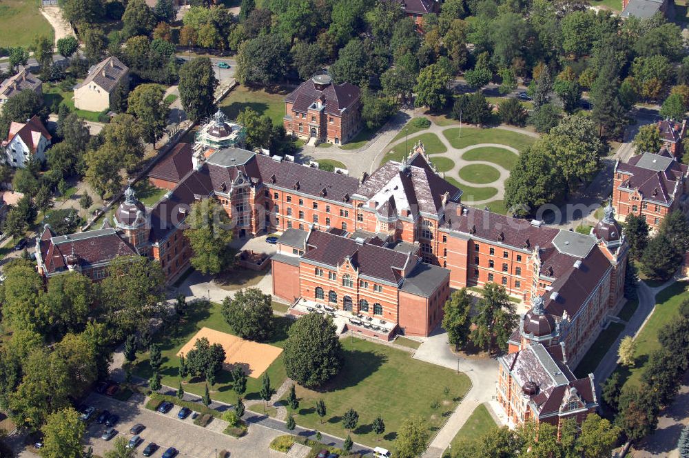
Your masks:
[[[403,277],[402,270],[419,261],[415,255],[405,255],[370,243],[358,243],[318,230],[311,232],[307,240],[307,252],[302,259],[336,267],[345,261],[345,257],[351,259],[360,275],[391,283],[399,283]]]

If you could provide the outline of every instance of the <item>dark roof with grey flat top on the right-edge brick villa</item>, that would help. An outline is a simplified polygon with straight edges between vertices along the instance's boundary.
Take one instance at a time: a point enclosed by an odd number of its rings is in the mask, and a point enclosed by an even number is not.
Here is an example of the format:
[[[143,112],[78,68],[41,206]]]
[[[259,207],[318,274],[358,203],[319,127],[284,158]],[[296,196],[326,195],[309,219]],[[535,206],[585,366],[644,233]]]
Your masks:
[[[675,199],[677,183],[686,177],[689,166],[666,155],[646,152],[627,163],[618,163],[616,171],[629,176],[619,189],[638,190],[644,200],[669,205]]]

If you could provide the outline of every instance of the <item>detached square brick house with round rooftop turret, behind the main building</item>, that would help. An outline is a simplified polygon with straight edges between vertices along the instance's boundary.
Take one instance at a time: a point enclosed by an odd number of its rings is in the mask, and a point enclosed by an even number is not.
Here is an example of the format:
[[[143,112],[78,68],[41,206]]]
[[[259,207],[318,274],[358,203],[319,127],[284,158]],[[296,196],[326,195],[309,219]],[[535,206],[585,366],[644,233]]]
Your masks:
[[[285,99],[282,123],[300,139],[347,143],[361,128],[361,91],[349,83],[333,83],[327,74],[305,81]]]

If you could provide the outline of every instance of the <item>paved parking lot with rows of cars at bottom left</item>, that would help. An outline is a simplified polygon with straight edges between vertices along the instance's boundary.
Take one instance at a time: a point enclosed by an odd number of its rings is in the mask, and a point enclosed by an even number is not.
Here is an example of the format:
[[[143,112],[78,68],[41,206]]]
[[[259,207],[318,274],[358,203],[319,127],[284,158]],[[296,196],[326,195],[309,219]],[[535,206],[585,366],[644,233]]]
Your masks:
[[[229,451],[233,458],[254,458],[259,455],[282,456],[279,452],[268,448],[270,441],[282,432],[251,425],[248,435],[236,439],[222,433],[223,421],[214,420],[206,428],[201,428],[194,425],[191,415],[184,420],[178,419],[177,412],[180,410],[178,406],[172,408],[167,414],[161,414],[145,408],[143,399],[142,395],[134,395],[129,401],[121,402],[92,393],[85,404],[96,408],[93,419],[97,418],[103,409],[119,415],[120,420],[114,427],[119,432],[115,437],[122,436],[129,440],[132,437],[129,430],[134,424],[145,425],[145,430],[141,432],[143,442],[136,448],[138,457],[143,456],[142,452],[150,442],[155,442],[160,446],[152,455],[153,457],[161,457],[168,447],[179,450],[178,457],[190,458],[215,458],[220,450]],[[110,441],[101,439],[104,430],[105,425],[100,425],[94,420],[86,432],[85,440],[93,447],[96,455],[103,456],[106,450],[112,448],[114,439]]]

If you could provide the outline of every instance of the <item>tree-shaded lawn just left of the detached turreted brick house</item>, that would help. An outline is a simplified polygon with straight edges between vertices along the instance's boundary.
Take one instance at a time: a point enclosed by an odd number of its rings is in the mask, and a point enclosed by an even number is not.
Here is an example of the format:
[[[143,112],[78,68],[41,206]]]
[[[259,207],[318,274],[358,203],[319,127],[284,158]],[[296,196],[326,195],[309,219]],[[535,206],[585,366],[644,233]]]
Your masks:
[[[287,89],[267,92],[264,89],[237,86],[227,94],[223,101],[220,101],[219,108],[229,119],[237,119],[239,112],[248,107],[259,115],[268,115],[275,126],[280,126],[282,118],[285,117],[285,97],[289,92]]]

